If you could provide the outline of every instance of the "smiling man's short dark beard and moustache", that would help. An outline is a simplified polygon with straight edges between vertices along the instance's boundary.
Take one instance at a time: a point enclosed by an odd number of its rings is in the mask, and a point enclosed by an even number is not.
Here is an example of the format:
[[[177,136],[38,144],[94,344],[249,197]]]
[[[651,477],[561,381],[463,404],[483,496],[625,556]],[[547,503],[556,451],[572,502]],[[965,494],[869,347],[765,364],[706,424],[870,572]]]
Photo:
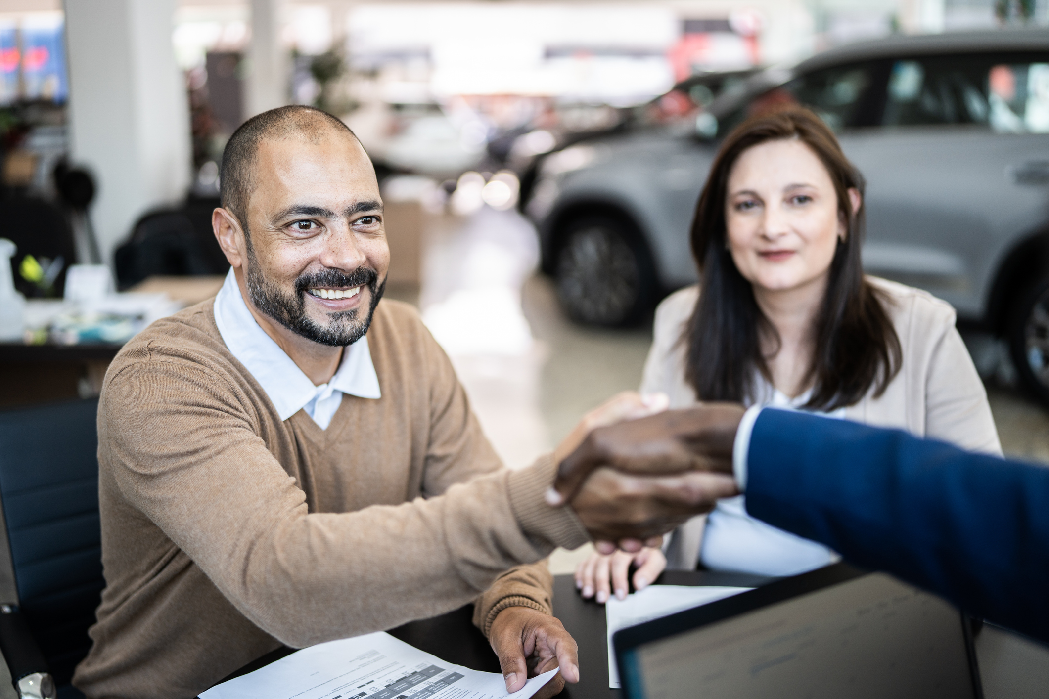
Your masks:
[[[345,347],[364,336],[371,325],[371,315],[386,289],[386,280],[379,283],[379,276],[367,267],[358,267],[348,275],[338,269],[302,275],[295,280],[295,293],[285,294],[275,284],[262,276],[255,250],[248,247],[248,269],[245,270],[248,293],[252,303],[260,311],[277,321],[292,332],[321,345]],[[360,307],[329,313],[327,327],[318,325],[306,314],[306,289],[366,286],[371,291],[371,303],[367,315],[359,318]]]

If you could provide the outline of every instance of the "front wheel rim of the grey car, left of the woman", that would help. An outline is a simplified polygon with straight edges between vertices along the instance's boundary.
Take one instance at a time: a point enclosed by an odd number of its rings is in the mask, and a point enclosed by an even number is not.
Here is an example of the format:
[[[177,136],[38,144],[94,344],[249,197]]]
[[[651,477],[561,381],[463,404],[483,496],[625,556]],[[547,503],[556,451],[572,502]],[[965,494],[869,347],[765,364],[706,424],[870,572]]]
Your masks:
[[[619,235],[603,226],[573,233],[558,258],[557,290],[581,321],[615,324],[637,304],[637,258]]]

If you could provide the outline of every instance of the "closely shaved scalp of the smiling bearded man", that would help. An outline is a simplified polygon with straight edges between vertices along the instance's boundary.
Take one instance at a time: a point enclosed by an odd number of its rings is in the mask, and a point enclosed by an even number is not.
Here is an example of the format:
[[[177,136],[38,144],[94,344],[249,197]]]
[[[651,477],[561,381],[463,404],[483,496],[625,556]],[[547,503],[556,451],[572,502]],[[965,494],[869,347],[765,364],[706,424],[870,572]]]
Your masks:
[[[327,112],[290,105],[262,112],[244,122],[234,131],[222,151],[219,177],[222,206],[233,212],[248,233],[248,200],[256,185],[256,156],[259,144],[267,139],[299,137],[316,144],[335,136],[357,138],[340,119]]]

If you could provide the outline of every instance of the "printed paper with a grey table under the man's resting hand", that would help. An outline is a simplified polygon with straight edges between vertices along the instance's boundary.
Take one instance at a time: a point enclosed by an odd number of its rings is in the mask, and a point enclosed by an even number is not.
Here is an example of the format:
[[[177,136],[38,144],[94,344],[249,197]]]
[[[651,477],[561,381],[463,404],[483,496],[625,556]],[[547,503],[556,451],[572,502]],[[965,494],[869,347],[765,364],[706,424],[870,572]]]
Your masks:
[[[303,649],[200,699],[528,699],[557,672],[532,677],[510,694],[498,673],[445,662],[378,632]]]

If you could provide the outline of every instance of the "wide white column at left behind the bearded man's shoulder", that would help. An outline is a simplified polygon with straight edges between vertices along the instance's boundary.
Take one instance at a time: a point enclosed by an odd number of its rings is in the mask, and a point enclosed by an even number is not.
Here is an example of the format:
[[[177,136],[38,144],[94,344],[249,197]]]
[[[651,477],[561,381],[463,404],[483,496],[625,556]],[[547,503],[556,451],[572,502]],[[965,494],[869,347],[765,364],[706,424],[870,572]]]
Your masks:
[[[72,161],[98,194],[102,259],[191,179],[189,107],[171,36],[176,0],[65,0]]]

